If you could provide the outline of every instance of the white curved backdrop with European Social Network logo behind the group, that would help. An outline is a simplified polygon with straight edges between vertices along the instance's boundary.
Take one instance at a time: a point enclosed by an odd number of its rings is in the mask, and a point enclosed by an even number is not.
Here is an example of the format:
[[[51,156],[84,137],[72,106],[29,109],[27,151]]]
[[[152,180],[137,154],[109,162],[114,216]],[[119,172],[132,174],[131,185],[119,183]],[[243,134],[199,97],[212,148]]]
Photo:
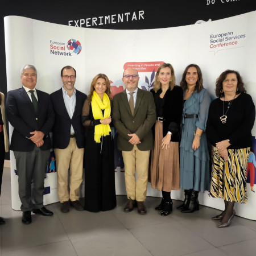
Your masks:
[[[97,73],[105,73],[109,77],[112,90],[116,93],[123,90],[123,70],[134,67],[141,77],[139,87],[148,90],[154,81],[154,71],[161,63],[173,65],[176,84],[179,84],[184,68],[196,63],[203,72],[204,86],[213,98],[215,81],[220,73],[225,69],[236,69],[243,77],[247,93],[256,103],[255,24],[256,11],[214,22],[152,30],[69,27],[20,16],[6,16],[7,90],[22,86],[20,68],[24,64],[35,65],[38,69],[36,88],[48,93],[62,86],[60,70],[64,65],[71,65],[77,71],[76,88],[88,94],[90,82]],[[68,47],[70,39],[74,39],[75,47],[81,46],[79,54]],[[10,126],[10,136],[12,131]],[[255,134],[254,126],[253,136]],[[20,210],[13,152],[10,158],[12,207]],[[124,175],[119,167],[115,181],[117,195],[126,195]],[[45,187],[44,203],[59,201],[56,172],[47,174]],[[250,191],[250,184],[247,184],[247,193],[248,203],[235,204],[236,212],[238,216],[256,220],[256,195]],[[161,195],[148,183],[147,196]],[[183,191],[173,191],[172,198],[183,200]],[[212,199],[207,192],[200,193],[199,200],[200,204],[208,207],[224,208],[221,199]]]

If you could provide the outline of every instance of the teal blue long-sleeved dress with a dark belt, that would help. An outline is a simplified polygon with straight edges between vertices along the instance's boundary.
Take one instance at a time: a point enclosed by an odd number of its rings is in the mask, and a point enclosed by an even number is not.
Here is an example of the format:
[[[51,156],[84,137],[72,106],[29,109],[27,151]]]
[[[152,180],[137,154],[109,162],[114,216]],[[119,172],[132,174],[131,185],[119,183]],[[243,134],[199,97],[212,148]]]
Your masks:
[[[193,92],[184,102],[181,121],[180,141],[180,188],[195,191],[208,191],[210,188],[209,150],[205,133],[210,96],[207,89]],[[198,115],[196,118],[184,118],[184,115]],[[200,146],[196,151],[192,149],[194,131],[197,127],[203,130]]]

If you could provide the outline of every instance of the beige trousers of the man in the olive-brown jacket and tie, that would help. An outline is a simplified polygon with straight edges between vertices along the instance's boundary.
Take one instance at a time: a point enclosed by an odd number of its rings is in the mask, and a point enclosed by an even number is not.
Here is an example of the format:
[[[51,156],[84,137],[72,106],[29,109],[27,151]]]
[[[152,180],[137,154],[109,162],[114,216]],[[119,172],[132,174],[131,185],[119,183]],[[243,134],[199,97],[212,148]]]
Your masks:
[[[127,198],[145,201],[147,196],[148,162],[150,150],[139,150],[136,145],[131,151],[122,151],[125,164],[125,187]],[[137,180],[135,177],[137,171]]]

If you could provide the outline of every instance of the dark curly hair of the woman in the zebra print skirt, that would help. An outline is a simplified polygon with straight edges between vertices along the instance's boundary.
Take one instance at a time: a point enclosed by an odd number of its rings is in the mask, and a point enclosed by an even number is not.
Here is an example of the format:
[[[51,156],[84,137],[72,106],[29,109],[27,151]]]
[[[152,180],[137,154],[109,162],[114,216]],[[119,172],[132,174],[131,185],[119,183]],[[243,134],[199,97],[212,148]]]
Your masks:
[[[227,69],[226,71],[222,72],[221,75],[216,79],[215,93],[216,93],[217,97],[221,98],[224,96],[224,92],[222,90],[223,89],[222,82],[226,79],[226,76],[228,76],[228,74],[236,74],[236,76],[237,76],[237,92],[236,92],[236,94],[246,92],[242,77],[240,76],[240,73],[238,71]]]

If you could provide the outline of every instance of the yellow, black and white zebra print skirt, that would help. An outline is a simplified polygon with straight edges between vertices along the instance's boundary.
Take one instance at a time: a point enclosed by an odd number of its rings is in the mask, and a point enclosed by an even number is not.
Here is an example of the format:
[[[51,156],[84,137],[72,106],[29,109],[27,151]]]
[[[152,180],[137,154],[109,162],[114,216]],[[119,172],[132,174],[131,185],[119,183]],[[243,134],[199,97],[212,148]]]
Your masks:
[[[247,203],[246,170],[250,147],[228,149],[225,162],[217,147],[212,146],[212,179],[209,196],[228,202]]]

